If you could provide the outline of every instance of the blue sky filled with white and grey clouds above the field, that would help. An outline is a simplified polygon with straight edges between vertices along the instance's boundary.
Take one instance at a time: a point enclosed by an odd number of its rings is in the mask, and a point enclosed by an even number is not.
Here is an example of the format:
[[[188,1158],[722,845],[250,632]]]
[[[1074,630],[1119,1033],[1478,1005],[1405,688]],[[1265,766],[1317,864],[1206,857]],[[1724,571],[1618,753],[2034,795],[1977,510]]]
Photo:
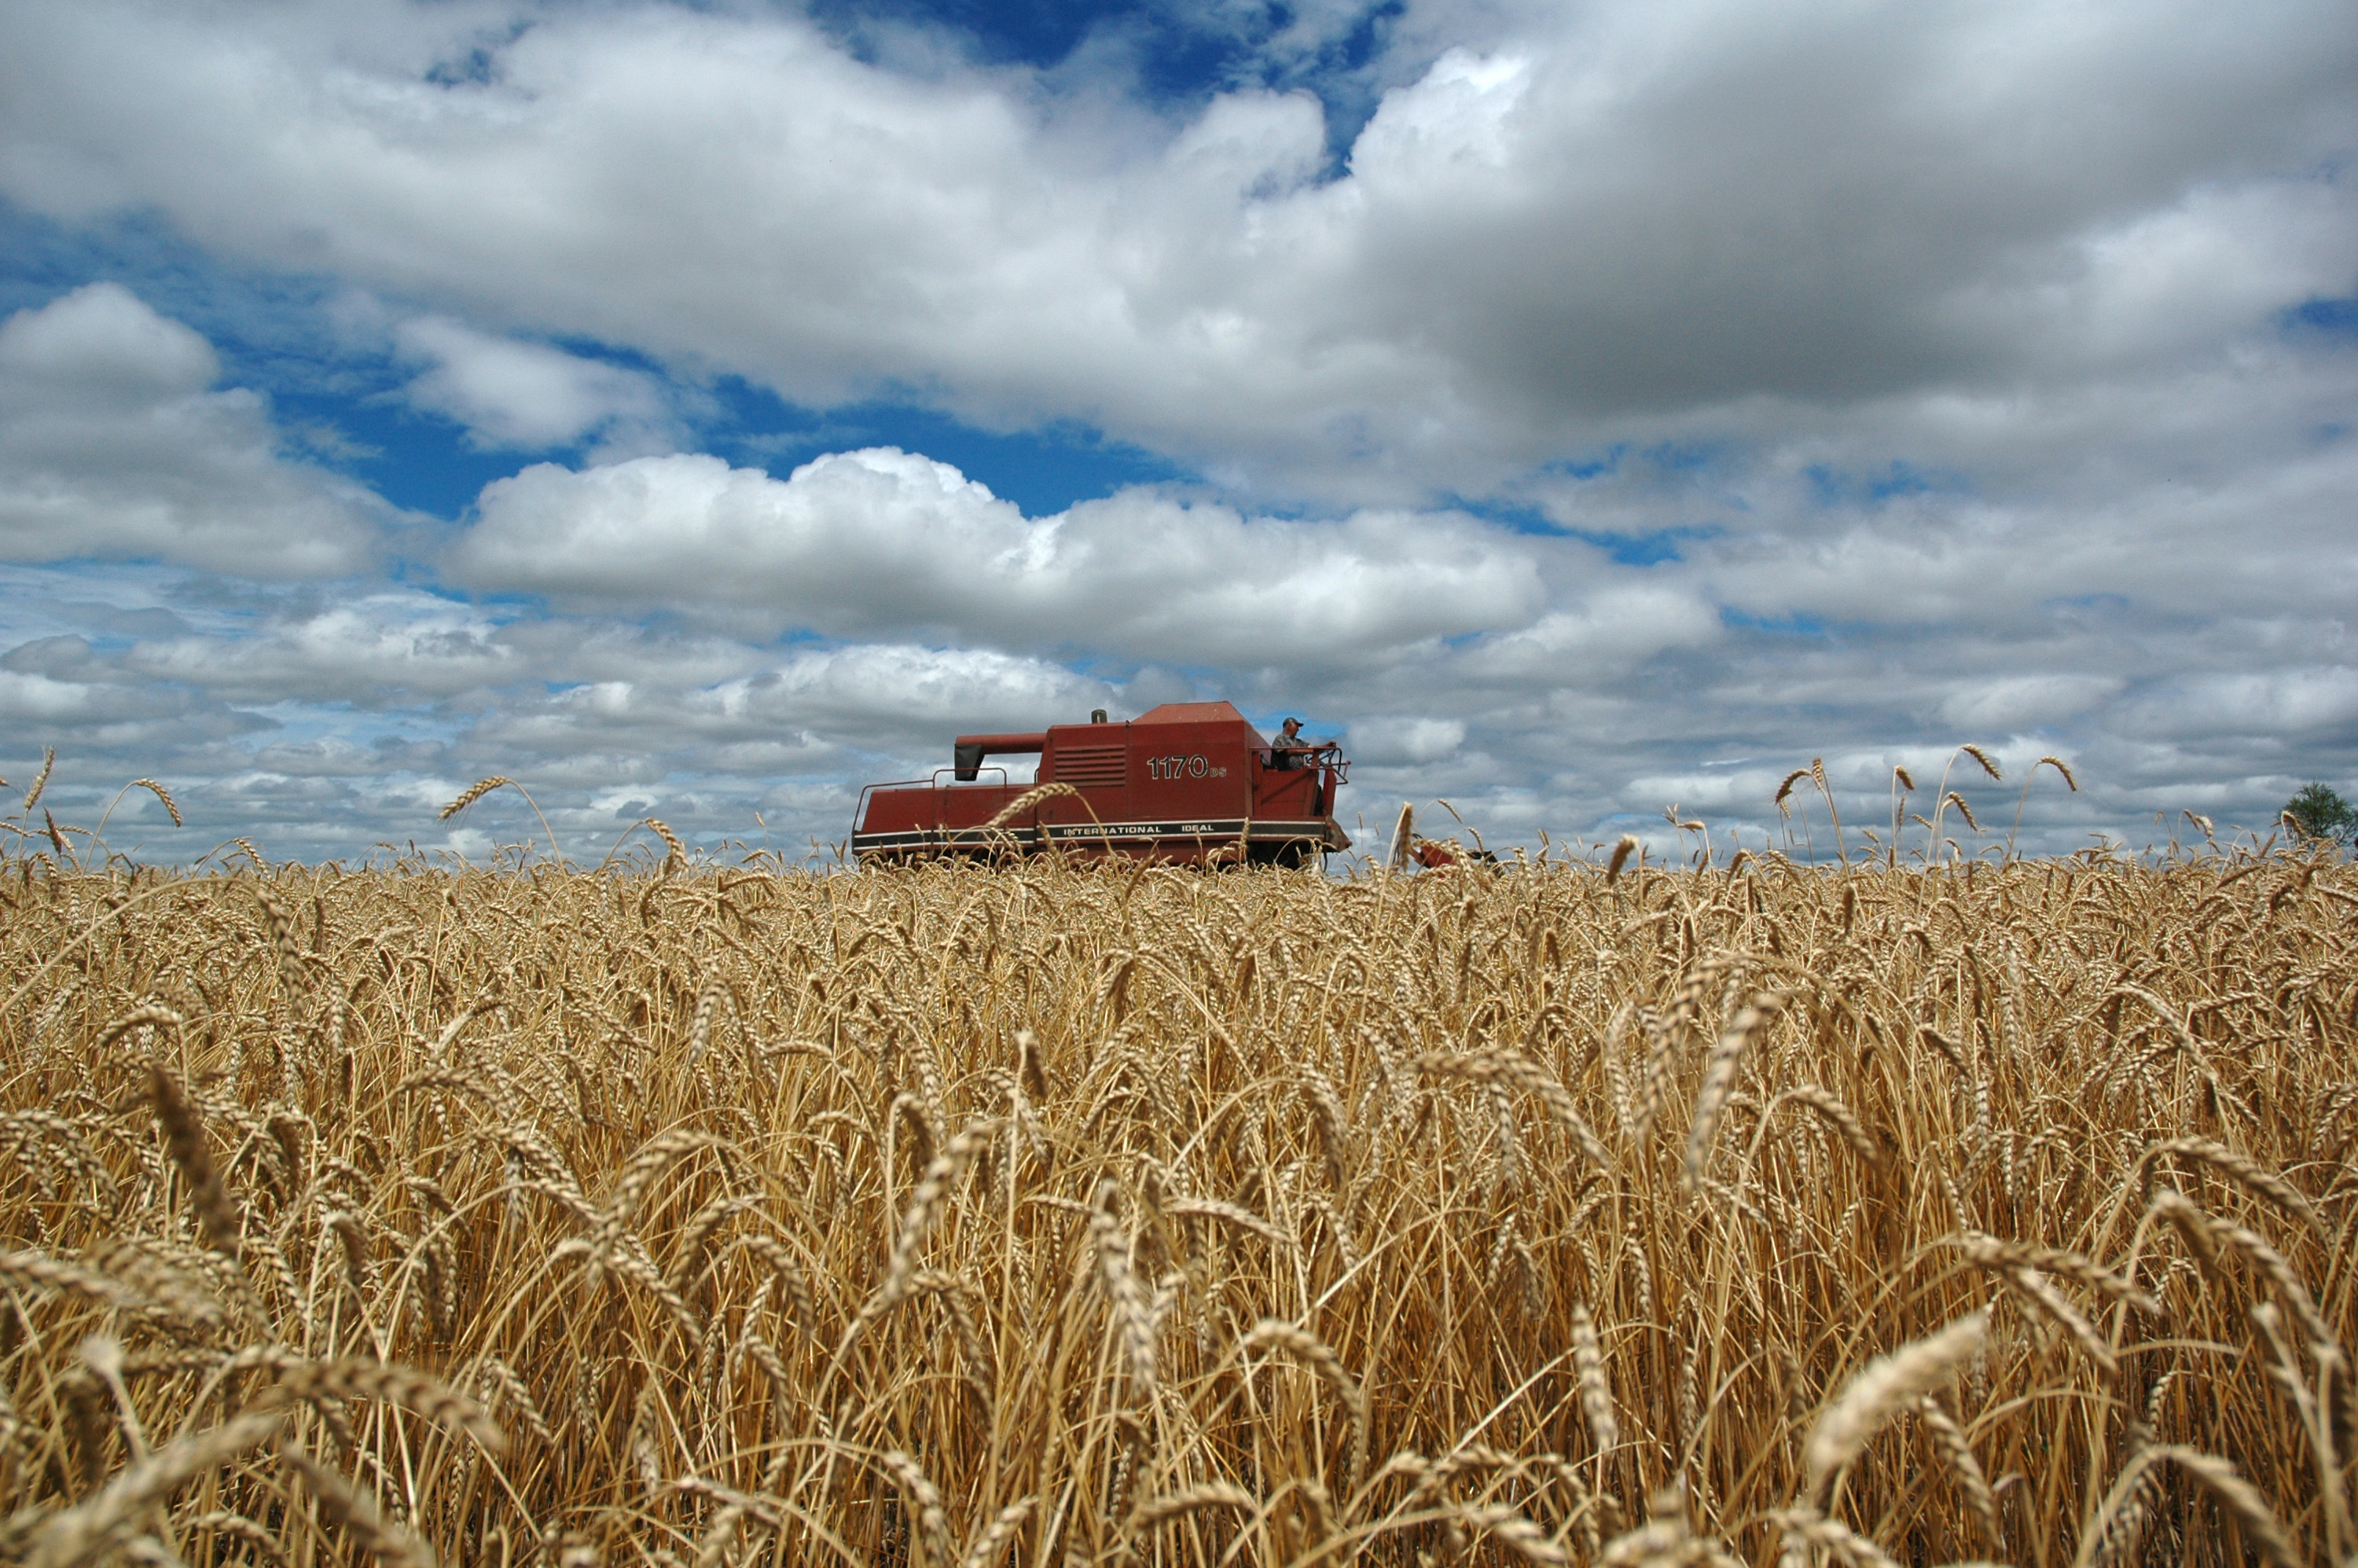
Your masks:
[[[0,0],[0,806],[792,858],[1229,698],[1363,844],[2264,832],[2353,153],[2349,0]]]

